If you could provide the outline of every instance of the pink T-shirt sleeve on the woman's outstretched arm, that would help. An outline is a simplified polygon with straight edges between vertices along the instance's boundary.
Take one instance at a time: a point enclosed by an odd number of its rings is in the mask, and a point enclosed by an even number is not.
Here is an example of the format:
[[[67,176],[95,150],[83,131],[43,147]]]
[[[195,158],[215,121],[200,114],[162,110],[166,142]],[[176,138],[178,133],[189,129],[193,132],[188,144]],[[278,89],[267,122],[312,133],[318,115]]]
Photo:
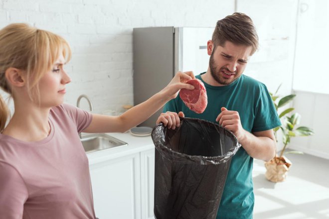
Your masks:
[[[68,113],[69,117],[76,124],[77,131],[79,133],[90,125],[92,120],[92,114],[90,112],[69,104],[63,104],[62,108]]]

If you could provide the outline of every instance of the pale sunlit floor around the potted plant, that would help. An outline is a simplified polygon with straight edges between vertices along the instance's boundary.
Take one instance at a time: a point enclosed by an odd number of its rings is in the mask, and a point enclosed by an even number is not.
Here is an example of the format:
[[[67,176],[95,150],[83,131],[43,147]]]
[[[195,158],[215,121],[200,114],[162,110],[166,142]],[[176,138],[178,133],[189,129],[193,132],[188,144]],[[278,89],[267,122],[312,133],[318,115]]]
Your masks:
[[[329,160],[287,154],[293,163],[286,181],[265,178],[265,166],[254,161],[254,219],[329,219]]]

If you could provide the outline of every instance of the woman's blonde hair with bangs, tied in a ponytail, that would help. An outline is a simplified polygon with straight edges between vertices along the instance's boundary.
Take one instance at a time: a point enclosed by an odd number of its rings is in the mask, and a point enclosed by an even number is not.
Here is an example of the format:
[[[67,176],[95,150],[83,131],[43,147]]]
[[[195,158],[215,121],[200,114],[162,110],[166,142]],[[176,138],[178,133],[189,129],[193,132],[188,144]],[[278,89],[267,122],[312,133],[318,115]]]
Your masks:
[[[12,96],[5,71],[16,68],[23,71],[28,95],[39,100],[38,82],[51,70],[62,52],[65,61],[71,58],[69,44],[61,36],[37,29],[25,23],[13,23],[0,30],[0,87]],[[2,132],[9,110],[0,97],[0,131]]]

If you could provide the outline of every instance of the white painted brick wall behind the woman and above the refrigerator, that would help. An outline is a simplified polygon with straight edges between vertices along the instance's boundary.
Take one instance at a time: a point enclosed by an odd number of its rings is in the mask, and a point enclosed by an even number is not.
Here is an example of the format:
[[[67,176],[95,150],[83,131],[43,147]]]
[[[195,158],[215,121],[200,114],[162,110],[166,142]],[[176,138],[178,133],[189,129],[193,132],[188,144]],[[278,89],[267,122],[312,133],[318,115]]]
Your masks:
[[[133,104],[134,27],[215,26],[233,11],[234,0],[1,0],[0,27],[27,22],[62,35],[73,51],[65,101],[86,94],[96,112],[120,111]]]

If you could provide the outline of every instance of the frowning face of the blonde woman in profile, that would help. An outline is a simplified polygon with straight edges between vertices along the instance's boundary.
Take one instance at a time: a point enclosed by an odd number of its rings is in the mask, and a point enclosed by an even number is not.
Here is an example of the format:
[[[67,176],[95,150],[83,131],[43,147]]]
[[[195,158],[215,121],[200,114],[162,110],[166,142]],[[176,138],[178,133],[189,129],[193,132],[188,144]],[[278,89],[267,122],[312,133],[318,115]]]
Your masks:
[[[71,78],[64,70],[65,59],[61,54],[39,81],[41,107],[59,106],[64,101],[65,85],[71,82]]]

